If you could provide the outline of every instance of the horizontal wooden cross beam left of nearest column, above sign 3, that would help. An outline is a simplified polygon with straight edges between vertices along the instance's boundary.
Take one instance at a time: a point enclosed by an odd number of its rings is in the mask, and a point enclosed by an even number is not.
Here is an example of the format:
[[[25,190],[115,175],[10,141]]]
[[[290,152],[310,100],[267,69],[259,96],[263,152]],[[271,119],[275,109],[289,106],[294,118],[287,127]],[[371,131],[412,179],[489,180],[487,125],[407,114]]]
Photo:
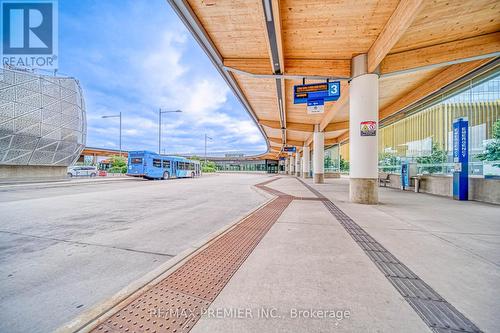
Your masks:
[[[298,76],[350,77],[351,62],[345,59],[289,59],[285,58],[284,74]],[[226,58],[224,66],[255,75],[272,75],[268,58]]]

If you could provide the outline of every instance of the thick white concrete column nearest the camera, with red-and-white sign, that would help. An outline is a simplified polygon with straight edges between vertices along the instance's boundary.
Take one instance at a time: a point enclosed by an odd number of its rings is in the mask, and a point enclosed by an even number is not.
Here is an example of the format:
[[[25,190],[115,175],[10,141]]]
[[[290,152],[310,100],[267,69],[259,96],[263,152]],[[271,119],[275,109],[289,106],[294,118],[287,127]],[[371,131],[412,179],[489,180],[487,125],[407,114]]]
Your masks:
[[[352,59],[349,87],[349,199],[378,203],[378,75],[367,74],[366,54]],[[374,135],[362,136],[361,123],[374,121]],[[366,134],[366,133],[365,133]]]

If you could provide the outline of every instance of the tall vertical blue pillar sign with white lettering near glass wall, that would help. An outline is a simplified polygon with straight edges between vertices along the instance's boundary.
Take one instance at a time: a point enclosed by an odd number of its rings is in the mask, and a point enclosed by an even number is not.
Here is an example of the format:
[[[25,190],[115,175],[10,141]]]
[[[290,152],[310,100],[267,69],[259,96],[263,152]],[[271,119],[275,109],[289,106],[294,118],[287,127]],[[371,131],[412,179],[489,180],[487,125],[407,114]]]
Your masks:
[[[469,121],[453,121],[453,199],[469,199]]]

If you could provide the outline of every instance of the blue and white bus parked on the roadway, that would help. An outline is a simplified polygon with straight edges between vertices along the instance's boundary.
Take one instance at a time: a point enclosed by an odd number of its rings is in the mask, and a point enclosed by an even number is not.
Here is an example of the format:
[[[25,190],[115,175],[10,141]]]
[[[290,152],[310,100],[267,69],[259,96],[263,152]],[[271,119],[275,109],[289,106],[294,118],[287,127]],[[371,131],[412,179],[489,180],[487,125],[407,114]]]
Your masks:
[[[150,151],[128,153],[127,176],[169,179],[201,175],[200,162],[184,157],[159,155]]]

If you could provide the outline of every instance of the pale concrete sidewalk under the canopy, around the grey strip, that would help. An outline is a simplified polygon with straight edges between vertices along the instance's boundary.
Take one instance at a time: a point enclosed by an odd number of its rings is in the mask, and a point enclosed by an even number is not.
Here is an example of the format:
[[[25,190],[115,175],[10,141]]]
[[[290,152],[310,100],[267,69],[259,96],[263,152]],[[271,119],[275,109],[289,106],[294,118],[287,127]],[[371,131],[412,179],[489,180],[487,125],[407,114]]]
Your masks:
[[[310,181],[308,184],[312,185]],[[267,185],[315,195],[293,177]],[[348,181],[312,185],[485,332],[500,332],[500,209]],[[294,200],[191,332],[426,332],[431,328],[321,201]]]

